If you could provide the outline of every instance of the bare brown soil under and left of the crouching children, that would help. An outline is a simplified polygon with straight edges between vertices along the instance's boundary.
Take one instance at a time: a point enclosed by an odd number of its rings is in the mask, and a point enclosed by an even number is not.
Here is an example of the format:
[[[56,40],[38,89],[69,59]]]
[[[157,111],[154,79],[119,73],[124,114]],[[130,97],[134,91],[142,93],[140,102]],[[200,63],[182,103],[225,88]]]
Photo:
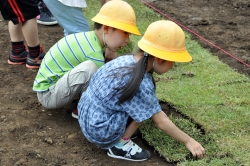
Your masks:
[[[0,15],[0,165],[127,166],[88,142],[78,121],[71,117],[73,104],[58,110],[45,109],[32,91],[37,70],[9,65],[11,49],[7,22]],[[63,37],[59,26],[38,25],[45,51]],[[170,165],[140,138],[134,140],[150,150],[145,162],[129,165]]]

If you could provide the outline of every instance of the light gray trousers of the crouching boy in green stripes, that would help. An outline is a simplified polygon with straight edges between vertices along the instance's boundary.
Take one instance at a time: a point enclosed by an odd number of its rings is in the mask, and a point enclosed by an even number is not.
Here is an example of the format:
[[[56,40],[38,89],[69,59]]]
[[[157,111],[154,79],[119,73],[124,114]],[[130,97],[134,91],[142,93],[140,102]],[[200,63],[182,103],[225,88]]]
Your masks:
[[[61,108],[71,103],[87,89],[96,71],[94,62],[82,62],[49,87],[48,91],[37,92],[38,101],[48,109]]]

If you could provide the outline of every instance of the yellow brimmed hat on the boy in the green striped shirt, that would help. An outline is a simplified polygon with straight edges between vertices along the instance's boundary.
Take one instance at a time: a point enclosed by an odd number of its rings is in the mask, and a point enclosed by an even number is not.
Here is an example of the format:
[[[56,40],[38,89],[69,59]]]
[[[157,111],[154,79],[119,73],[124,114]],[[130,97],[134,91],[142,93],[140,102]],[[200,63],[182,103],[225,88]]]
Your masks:
[[[92,21],[114,27],[135,35],[141,35],[136,26],[132,7],[125,1],[112,0],[105,3]]]

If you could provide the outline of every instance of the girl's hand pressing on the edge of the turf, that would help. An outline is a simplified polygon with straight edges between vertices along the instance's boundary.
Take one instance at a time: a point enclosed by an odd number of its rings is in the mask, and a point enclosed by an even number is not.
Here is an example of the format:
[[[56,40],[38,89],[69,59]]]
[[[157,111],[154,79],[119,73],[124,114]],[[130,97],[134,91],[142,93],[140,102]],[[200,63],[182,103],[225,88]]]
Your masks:
[[[202,158],[205,156],[205,149],[201,146],[201,144],[199,144],[193,138],[190,138],[185,143],[185,146],[192,153],[194,157]]]

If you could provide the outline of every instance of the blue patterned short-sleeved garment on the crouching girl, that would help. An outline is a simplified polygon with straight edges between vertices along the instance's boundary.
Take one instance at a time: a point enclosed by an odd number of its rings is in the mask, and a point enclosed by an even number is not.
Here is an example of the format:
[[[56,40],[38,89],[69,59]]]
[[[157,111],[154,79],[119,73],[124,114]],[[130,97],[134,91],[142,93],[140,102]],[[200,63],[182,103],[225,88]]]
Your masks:
[[[83,134],[103,149],[111,148],[120,139],[129,116],[136,122],[142,122],[161,111],[150,73],[145,73],[131,101],[116,104],[120,91],[114,88],[122,87],[129,81],[130,75],[122,74],[127,71],[127,66],[135,63],[133,55],[124,55],[102,66],[91,78],[78,103]],[[118,74],[114,75],[117,71]]]

